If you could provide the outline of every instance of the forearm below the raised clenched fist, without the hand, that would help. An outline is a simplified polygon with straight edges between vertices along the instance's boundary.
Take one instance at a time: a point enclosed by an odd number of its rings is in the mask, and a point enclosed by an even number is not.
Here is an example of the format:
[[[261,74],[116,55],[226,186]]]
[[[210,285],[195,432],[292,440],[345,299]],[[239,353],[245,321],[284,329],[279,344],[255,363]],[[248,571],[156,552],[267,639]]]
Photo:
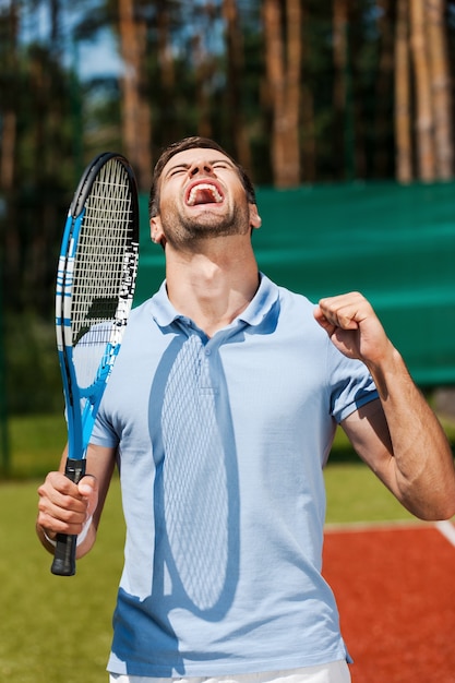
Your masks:
[[[392,344],[384,359],[369,369],[391,435],[395,494],[418,517],[451,517],[455,514],[454,460],[436,416]]]

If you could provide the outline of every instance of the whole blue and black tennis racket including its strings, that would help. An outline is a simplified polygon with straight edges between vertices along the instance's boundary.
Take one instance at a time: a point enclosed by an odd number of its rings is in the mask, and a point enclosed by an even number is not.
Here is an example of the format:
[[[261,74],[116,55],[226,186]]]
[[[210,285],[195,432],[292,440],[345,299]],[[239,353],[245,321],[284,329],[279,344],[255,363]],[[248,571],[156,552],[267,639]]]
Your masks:
[[[65,475],[77,483],[134,295],[139,202],[128,160],[110,152],[85,169],[64,227],[57,272],[57,348],[68,422]],[[76,536],[59,534],[52,574],[75,574]]]

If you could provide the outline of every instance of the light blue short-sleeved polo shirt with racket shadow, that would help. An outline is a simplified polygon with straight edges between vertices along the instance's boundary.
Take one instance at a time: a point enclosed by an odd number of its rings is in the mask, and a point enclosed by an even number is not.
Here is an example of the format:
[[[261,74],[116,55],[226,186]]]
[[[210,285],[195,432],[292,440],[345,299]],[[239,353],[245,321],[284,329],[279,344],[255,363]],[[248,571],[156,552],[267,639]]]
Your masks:
[[[378,397],[313,304],[261,276],[212,338],[165,285],[134,309],[93,442],[118,446],[125,563],[108,669],[275,671],[347,657],[321,577],[336,423]]]

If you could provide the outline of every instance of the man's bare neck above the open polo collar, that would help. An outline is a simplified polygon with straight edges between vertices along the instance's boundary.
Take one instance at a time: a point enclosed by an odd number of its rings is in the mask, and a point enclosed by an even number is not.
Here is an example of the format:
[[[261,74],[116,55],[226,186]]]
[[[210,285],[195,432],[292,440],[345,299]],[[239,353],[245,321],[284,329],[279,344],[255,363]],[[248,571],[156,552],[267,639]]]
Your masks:
[[[208,244],[203,253],[177,252],[166,244],[169,300],[209,337],[248,307],[259,287],[251,241],[247,249],[244,243],[236,249],[236,241],[229,242],[223,249]]]

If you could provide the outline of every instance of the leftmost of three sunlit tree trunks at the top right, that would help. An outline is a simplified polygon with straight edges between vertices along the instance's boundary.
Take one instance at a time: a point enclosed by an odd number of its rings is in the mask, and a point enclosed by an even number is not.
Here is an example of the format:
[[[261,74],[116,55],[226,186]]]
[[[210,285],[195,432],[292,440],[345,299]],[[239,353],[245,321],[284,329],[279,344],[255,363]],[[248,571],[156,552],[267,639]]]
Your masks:
[[[395,33],[395,173],[412,180],[408,0],[398,0]]]

